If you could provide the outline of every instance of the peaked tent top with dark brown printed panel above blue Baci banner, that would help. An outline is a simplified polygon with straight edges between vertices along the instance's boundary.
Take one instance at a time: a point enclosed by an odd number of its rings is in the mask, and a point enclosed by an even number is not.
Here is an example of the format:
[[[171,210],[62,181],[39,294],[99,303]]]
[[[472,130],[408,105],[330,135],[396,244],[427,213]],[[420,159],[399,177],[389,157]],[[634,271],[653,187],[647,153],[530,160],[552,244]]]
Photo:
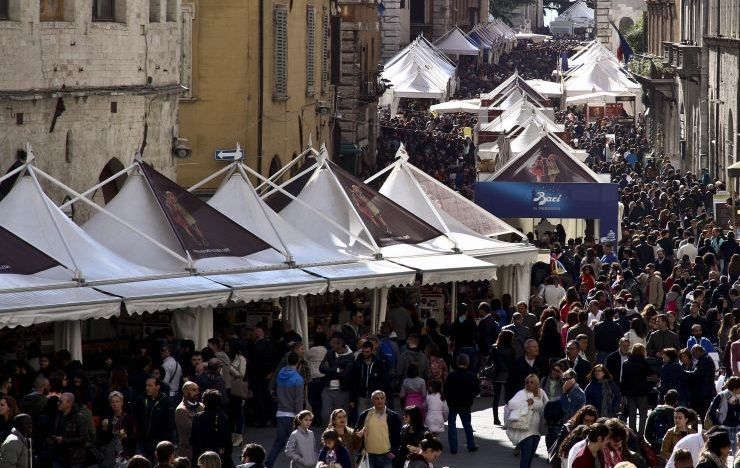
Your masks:
[[[487,181],[599,183],[598,175],[581,162],[565,142],[546,133],[519,156],[511,158]]]

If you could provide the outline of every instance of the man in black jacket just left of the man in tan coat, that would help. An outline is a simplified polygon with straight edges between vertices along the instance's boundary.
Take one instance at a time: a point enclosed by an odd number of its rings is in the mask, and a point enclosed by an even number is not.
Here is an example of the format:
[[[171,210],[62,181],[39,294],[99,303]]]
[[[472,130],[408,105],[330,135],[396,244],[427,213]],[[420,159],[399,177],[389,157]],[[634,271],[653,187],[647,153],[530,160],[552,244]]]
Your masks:
[[[172,441],[174,429],[171,400],[161,389],[162,382],[159,378],[146,379],[144,397],[139,400],[136,408],[141,451],[150,460],[154,458],[154,450],[159,442]]]

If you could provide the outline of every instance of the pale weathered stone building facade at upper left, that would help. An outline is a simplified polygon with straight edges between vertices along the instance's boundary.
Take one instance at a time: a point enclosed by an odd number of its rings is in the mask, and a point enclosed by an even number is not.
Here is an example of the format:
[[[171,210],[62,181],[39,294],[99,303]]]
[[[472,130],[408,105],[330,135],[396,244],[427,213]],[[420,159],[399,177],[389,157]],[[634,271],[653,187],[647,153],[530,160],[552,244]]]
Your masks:
[[[30,142],[42,170],[83,191],[144,160],[175,176],[179,0],[0,2],[0,170]],[[105,202],[117,192],[95,193]],[[61,203],[64,193],[49,192]],[[89,210],[77,204],[74,218]]]

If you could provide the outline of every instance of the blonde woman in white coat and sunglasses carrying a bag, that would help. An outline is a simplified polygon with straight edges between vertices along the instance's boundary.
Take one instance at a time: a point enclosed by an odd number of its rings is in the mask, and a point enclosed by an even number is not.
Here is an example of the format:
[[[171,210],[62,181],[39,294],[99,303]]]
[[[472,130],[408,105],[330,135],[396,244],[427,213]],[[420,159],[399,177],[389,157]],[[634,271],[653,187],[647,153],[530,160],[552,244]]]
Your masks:
[[[547,395],[540,388],[540,379],[529,374],[524,379],[524,390],[519,390],[507,404],[504,415],[506,435],[512,444],[519,447],[519,468],[530,468],[540,435],[547,430],[543,411]]]

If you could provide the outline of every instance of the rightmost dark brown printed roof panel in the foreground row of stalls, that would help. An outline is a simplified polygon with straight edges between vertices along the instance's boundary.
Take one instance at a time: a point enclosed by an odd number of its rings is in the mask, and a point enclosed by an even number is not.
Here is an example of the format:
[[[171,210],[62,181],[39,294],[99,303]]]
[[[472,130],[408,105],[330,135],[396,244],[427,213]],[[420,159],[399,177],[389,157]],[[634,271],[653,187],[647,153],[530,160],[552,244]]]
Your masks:
[[[379,246],[419,244],[442,235],[440,231],[349,172],[331,161],[328,163]]]

